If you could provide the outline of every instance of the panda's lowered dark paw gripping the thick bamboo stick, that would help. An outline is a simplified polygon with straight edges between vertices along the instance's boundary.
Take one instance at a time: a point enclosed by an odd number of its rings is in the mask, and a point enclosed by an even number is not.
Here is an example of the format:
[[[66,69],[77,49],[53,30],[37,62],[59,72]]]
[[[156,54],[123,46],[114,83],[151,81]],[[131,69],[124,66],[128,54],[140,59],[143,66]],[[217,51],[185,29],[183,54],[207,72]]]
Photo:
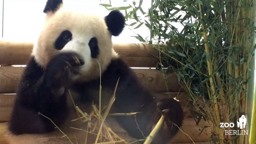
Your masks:
[[[162,99],[157,102],[157,115],[159,118],[160,115],[165,115],[165,120],[154,141],[156,143],[166,143],[177,133],[178,127],[182,125],[183,110],[178,101]],[[152,126],[152,129],[154,126]]]

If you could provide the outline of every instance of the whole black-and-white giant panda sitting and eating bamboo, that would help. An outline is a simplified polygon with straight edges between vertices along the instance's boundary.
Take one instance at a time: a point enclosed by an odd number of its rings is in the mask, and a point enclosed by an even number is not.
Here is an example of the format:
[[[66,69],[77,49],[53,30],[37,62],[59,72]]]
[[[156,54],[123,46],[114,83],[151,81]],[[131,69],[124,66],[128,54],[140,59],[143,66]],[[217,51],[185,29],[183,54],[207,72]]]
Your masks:
[[[99,104],[100,82],[104,108],[118,80],[110,112],[140,113],[113,116],[110,121],[116,121],[130,137],[145,139],[161,115],[165,115],[164,125],[153,143],[168,142],[177,133],[177,126],[182,125],[182,108],[173,99],[155,99],[114,51],[111,38],[123,31],[123,14],[114,10],[105,18],[99,18],[70,11],[62,3],[62,0],[48,0],[45,5],[45,25],[18,86],[9,122],[10,143],[69,143],[64,138],[43,139],[57,137],[59,131],[38,113],[49,117],[61,130],[73,134],[69,126],[75,124],[70,120],[78,115],[70,102],[69,92],[74,103],[90,113],[92,103]],[[84,140],[84,134],[76,137]]]

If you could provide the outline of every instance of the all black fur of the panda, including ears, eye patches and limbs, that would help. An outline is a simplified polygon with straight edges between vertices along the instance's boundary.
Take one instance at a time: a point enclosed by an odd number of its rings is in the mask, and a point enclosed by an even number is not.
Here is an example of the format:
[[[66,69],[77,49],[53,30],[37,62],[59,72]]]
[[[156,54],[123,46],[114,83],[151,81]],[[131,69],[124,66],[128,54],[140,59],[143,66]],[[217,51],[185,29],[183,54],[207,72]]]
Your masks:
[[[61,3],[61,0],[48,0],[44,12],[56,11]],[[105,22],[112,35],[117,36],[123,31],[124,17],[119,11],[110,12],[105,17]],[[55,48],[61,49],[70,39],[67,37],[65,40],[57,38]],[[89,46],[91,57],[97,58],[99,54],[97,38],[92,38]],[[53,131],[52,122],[38,115],[38,112],[49,117],[57,126],[62,126],[72,112],[67,106],[68,90],[78,95],[76,102],[79,104],[92,102],[99,104],[99,77],[90,81],[71,79],[72,76],[79,74],[77,67],[84,64],[83,58],[75,52],[62,52],[56,55],[50,59],[46,67],[41,67],[32,56],[17,90],[17,98],[9,122],[11,133],[20,135]],[[103,105],[108,103],[118,79],[116,99],[111,113],[142,112],[137,113],[136,116],[115,117],[132,137],[144,139],[162,114],[167,118],[162,130],[155,138],[155,143],[167,142],[177,133],[177,126],[181,126],[183,120],[180,104],[173,99],[155,99],[139,83],[133,71],[121,58],[113,58],[101,76]]]

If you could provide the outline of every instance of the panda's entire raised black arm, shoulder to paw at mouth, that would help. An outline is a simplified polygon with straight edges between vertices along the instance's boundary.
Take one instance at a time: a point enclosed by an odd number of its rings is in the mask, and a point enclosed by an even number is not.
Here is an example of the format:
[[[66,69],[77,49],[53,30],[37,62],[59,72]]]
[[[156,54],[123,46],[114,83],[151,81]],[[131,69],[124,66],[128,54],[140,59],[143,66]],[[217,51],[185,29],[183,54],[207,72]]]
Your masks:
[[[49,119],[38,112],[61,125],[67,117],[66,96],[72,75],[78,74],[76,68],[83,63],[78,54],[65,52],[52,58],[44,70],[32,58],[18,87],[9,130],[16,135],[54,130]]]

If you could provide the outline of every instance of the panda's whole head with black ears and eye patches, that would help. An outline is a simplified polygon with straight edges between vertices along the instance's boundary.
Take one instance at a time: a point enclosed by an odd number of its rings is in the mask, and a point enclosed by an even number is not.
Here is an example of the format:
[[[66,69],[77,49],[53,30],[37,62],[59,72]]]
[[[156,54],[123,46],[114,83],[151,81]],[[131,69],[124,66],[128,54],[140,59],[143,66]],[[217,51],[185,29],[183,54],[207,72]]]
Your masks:
[[[79,68],[80,79],[99,76],[111,59],[117,57],[112,47],[112,36],[118,36],[124,28],[124,16],[111,11],[105,18],[70,11],[62,0],[48,0],[43,11],[47,14],[45,25],[34,45],[32,56],[42,67],[61,52],[77,52],[85,61]]]

